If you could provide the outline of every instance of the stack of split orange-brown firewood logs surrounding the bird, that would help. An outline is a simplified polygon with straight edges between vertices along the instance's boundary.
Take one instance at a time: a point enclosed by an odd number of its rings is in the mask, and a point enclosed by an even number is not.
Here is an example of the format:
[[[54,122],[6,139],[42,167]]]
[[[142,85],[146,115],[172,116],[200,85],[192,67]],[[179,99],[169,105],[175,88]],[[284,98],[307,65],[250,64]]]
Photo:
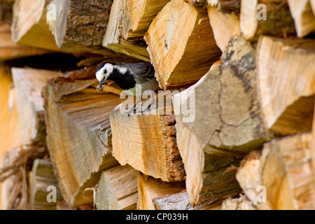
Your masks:
[[[1,209],[315,209],[314,0],[0,1],[0,78]]]

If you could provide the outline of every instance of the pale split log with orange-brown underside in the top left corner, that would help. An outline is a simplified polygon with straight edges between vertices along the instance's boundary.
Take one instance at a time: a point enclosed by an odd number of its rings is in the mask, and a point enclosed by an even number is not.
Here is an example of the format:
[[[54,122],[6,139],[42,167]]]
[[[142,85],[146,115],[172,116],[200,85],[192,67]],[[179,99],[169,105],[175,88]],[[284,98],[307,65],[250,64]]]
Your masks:
[[[13,42],[48,50],[59,49],[46,22],[50,1],[15,1],[11,27]]]

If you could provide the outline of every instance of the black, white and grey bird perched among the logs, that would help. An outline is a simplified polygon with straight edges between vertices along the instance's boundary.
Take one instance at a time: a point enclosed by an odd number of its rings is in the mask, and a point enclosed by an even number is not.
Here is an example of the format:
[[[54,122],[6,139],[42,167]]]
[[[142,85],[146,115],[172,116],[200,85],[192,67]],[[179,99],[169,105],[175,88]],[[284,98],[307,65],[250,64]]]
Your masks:
[[[141,95],[144,91],[155,91],[159,87],[153,65],[145,62],[128,64],[103,62],[97,66],[95,76],[99,81],[97,91],[102,91],[104,85],[113,81],[127,94],[132,93],[132,95],[139,97],[140,100],[133,106],[132,110],[141,102]],[[141,85],[141,92],[137,91],[139,85]]]

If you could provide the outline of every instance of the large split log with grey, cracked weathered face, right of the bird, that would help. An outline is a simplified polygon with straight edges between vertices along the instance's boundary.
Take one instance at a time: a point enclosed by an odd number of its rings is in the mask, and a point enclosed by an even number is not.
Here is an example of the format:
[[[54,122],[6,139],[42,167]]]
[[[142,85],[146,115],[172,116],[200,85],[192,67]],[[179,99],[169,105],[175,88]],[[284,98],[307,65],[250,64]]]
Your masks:
[[[237,167],[244,154],[272,137],[258,104],[255,49],[235,36],[221,61],[221,66],[173,99],[180,104],[174,106],[176,137],[192,204],[239,193],[235,170],[225,169]],[[195,107],[184,115],[181,110],[188,103]]]

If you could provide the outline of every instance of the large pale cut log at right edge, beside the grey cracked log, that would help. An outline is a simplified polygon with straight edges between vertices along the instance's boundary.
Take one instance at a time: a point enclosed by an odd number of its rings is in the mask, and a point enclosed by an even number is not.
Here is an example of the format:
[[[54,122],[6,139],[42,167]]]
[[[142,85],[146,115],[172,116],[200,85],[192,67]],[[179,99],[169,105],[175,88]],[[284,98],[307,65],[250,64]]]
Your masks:
[[[269,130],[309,132],[314,115],[315,41],[260,37],[258,93]]]

